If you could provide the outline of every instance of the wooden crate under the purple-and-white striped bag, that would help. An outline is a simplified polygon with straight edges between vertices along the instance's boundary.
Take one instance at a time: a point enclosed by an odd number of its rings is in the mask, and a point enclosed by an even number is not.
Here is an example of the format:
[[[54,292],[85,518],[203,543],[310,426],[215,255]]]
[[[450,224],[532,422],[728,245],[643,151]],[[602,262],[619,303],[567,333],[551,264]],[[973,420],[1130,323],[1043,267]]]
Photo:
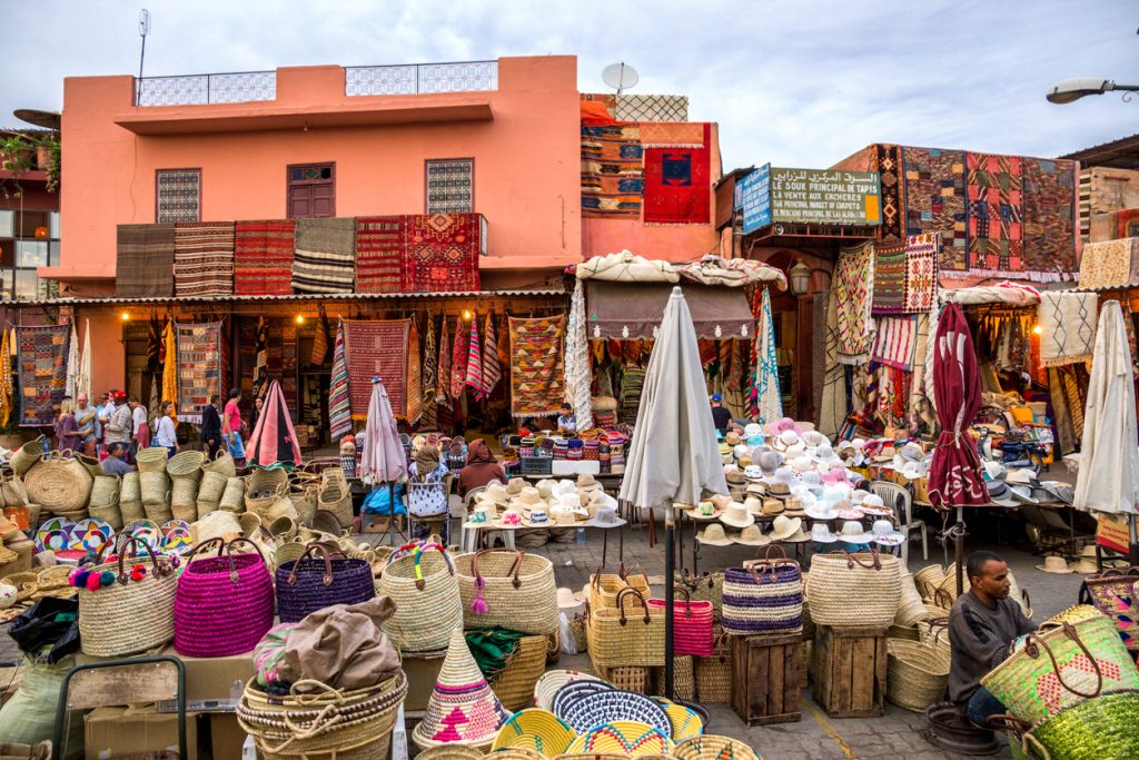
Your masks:
[[[731,709],[749,726],[801,717],[801,634],[731,637]]]

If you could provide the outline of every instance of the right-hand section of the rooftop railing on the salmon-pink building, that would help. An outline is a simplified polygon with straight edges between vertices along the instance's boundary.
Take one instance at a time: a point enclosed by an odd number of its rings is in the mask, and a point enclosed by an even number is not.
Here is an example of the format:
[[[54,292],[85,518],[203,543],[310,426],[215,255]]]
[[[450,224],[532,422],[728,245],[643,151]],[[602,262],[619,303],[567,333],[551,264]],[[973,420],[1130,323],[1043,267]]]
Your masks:
[[[349,96],[490,92],[497,89],[497,60],[351,66],[344,72],[344,93]]]

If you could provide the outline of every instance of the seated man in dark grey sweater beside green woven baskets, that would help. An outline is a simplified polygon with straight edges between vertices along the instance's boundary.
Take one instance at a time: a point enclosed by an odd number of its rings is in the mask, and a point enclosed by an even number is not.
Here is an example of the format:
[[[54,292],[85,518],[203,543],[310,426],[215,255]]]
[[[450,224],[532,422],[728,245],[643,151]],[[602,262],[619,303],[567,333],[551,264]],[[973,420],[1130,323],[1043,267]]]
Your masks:
[[[1036,630],[1021,605],[1008,598],[1008,565],[992,551],[974,551],[966,563],[969,590],[949,613],[949,698],[965,710],[969,722],[989,728],[990,716],[1005,712],[981,679],[1005,662],[1019,637]]]

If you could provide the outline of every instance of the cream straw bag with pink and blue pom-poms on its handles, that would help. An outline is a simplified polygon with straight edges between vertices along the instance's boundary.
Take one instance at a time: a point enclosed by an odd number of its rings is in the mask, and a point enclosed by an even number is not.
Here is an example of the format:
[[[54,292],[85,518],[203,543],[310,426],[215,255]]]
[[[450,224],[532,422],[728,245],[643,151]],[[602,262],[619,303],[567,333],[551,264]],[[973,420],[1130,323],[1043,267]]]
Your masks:
[[[131,565],[141,564],[145,567],[140,580],[131,578],[130,567],[123,564],[126,547],[139,551],[139,556],[131,559]],[[100,559],[101,556],[100,551]],[[162,646],[174,638],[178,573],[167,558],[156,555],[146,541],[128,538],[118,550],[117,562],[97,563],[91,572],[100,573],[105,579],[107,575],[104,573],[109,573],[113,582],[93,591],[85,587],[79,589],[79,630],[83,654],[120,657]]]

